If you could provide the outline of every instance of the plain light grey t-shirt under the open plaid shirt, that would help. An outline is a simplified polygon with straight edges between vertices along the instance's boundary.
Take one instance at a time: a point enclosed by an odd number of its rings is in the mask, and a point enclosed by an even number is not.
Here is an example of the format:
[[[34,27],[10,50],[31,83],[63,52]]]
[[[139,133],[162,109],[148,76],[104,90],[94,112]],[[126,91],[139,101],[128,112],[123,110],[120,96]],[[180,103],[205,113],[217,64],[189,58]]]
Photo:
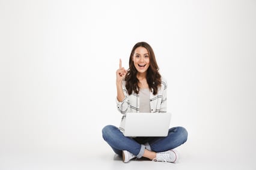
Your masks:
[[[150,113],[150,90],[139,89],[139,112]]]

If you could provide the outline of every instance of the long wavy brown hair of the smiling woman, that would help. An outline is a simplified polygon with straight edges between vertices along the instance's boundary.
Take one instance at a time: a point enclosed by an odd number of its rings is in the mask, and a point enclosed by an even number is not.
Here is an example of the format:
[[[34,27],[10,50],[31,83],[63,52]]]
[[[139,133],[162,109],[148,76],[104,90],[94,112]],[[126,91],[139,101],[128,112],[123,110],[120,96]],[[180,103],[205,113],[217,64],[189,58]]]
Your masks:
[[[131,95],[133,91],[137,94],[139,93],[139,80],[136,76],[138,71],[136,70],[132,60],[134,51],[138,47],[144,47],[148,51],[148,55],[150,57],[150,66],[147,69],[147,83],[149,89],[153,90],[153,94],[156,95],[158,91],[157,87],[161,86],[161,75],[159,73],[159,67],[156,62],[156,57],[154,56],[153,48],[151,48],[147,42],[138,42],[132,48],[129,59],[129,69],[124,79],[126,80],[126,89],[129,95]]]

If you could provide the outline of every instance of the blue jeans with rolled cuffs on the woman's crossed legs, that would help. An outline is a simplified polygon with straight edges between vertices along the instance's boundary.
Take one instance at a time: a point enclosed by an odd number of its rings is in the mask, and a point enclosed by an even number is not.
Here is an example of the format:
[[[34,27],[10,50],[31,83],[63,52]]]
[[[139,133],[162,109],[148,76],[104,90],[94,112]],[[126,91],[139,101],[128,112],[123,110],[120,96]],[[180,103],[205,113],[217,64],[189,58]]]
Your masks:
[[[136,137],[130,138],[116,126],[107,125],[102,129],[103,139],[111,146],[114,152],[122,156],[122,151],[127,150],[136,157],[141,158],[145,148],[156,153],[178,147],[187,141],[187,130],[183,127],[169,129],[165,137]]]

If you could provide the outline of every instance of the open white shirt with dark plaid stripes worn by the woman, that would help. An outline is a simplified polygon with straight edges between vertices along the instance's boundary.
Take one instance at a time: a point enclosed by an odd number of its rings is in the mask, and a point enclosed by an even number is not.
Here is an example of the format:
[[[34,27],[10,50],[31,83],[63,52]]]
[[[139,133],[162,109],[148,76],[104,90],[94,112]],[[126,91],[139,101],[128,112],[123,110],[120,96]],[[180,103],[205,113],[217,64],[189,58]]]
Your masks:
[[[124,92],[124,100],[117,102],[117,110],[123,114],[121,118],[121,123],[119,129],[124,132],[124,123],[126,121],[126,113],[139,113],[139,94],[133,92],[131,95],[128,95],[126,89],[126,81],[123,80],[123,92]],[[167,99],[167,81],[162,77],[161,87],[158,88],[158,92],[156,95],[153,95],[150,92],[150,110],[151,113],[166,113],[166,99]]]

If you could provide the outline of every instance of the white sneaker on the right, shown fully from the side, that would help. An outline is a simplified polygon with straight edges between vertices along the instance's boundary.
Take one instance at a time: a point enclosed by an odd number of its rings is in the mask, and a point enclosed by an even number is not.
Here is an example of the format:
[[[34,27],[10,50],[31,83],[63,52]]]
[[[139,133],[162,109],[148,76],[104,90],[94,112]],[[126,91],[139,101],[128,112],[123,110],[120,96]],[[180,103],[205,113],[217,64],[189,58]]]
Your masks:
[[[153,161],[171,162],[175,163],[178,160],[178,153],[176,150],[168,150],[156,153],[156,157]]]

